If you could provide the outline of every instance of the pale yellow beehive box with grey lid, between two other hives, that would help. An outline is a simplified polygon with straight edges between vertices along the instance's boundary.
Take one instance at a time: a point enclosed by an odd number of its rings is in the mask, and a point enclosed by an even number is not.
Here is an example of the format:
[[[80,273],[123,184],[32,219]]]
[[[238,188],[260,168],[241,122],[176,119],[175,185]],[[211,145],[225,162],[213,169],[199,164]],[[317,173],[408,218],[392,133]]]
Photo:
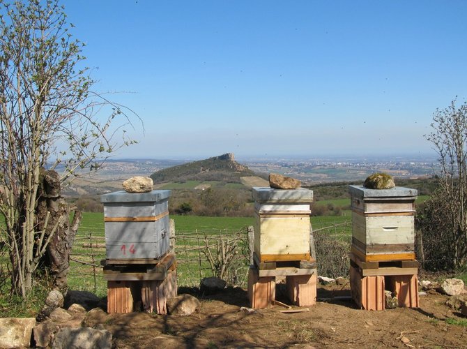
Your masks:
[[[313,191],[252,188],[254,253],[259,262],[309,260],[309,215]]]

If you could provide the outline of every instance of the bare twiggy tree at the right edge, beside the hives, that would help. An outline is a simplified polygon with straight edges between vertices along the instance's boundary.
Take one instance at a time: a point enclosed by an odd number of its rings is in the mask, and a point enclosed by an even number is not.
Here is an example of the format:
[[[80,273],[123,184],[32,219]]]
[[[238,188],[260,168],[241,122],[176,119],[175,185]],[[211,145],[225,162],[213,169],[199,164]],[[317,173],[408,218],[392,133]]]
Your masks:
[[[427,258],[452,268],[467,265],[467,102],[456,103],[434,112],[433,131],[425,136],[438,153],[441,173],[420,222],[425,253],[431,251]]]

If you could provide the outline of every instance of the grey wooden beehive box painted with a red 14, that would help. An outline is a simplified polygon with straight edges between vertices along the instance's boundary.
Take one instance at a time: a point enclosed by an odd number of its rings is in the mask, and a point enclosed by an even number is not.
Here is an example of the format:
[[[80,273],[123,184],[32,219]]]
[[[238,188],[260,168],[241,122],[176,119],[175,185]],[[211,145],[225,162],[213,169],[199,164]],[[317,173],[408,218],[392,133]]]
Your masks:
[[[102,195],[107,260],[158,259],[169,249],[170,191]]]

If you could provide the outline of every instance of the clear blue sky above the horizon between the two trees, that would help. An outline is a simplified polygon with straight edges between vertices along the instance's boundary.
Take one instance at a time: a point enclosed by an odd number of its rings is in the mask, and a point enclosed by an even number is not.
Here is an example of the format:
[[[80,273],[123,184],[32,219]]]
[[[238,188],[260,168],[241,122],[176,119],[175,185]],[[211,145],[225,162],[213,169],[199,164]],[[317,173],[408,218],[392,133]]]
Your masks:
[[[467,1],[61,2],[95,89],[144,121],[117,157],[433,154],[467,97]]]

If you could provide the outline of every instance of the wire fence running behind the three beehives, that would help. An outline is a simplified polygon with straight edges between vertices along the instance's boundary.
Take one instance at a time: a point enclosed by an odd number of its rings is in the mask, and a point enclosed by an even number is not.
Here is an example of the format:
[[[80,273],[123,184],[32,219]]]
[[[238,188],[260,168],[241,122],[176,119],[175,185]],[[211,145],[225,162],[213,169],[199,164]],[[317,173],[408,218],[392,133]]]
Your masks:
[[[319,273],[347,276],[351,237],[347,233],[351,221],[314,230],[311,244]],[[203,229],[178,231],[171,235],[171,246],[177,259],[178,285],[197,287],[201,279],[218,276],[230,285],[246,287],[249,265],[252,264],[254,231]],[[103,279],[105,237],[86,232],[75,239],[70,256],[69,285],[73,290],[93,290],[105,295],[107,283]]]

